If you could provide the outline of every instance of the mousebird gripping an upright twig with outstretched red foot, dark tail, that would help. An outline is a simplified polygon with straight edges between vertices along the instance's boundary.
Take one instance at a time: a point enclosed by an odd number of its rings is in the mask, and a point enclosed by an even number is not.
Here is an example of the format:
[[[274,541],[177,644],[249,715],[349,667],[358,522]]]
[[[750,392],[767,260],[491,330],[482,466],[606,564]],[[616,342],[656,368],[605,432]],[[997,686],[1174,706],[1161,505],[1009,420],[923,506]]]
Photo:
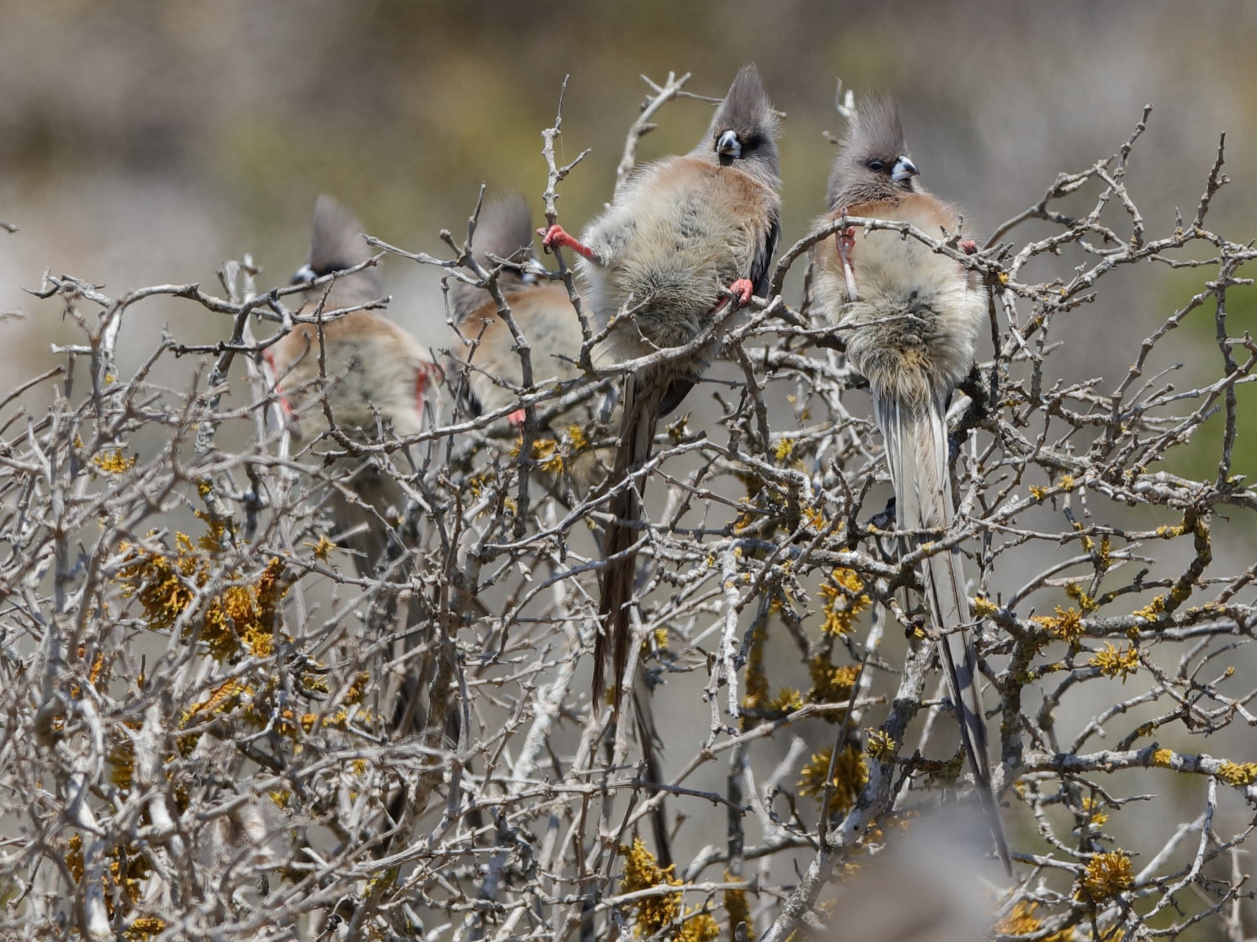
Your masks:
[[[778,118],[759,72],[744,67],[716,109],[708,134],[688,154],[639,168],[612,205],[576,240],[561,226],[538,230],[547,249],[568,246],[600,328],[612,325],[602,362],[625,362],[699,338],[727,304],[763,294],[777,245],[781,198]],[[608,477],[622,486],[650,457],[660,416],[675,409],[703,376],[714,343],[664,359],[625,383],[621,436]],[[610,647],[618,707],[631,642],[644,482],[611,501],[603,536],[601,615],[595,646],[595,702],[601,701]]]

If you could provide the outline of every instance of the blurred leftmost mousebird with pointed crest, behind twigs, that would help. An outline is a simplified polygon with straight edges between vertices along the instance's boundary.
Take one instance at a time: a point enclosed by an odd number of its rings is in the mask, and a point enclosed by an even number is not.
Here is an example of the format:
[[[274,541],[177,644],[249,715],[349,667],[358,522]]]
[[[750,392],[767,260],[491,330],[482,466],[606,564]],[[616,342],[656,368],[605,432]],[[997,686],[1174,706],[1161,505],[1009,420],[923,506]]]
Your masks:
[[[339,202],[321,196],[314,205],[309,261],[294,275],[294,284],[368,260],[371,251],[361,232],[362,225]],[[376,271],[367,268],[310,289],[297,313],[334,315],[381,295]],[[298,323],[264,355],[290,427],[307,438],[328,428],[328,414],[337,428],[360,440],[377,438],[386,430],[402,437],[415,435],[440,377],[419,342],[376,310],[354,310],[322,325]],[[366,577],[385,559],[392,539],[390,521],[406,500],[378,456],[347,461],[353,467],[342,481],[344,487],[332,490],[329,504],[338,541],[354,553],[358,574]]]

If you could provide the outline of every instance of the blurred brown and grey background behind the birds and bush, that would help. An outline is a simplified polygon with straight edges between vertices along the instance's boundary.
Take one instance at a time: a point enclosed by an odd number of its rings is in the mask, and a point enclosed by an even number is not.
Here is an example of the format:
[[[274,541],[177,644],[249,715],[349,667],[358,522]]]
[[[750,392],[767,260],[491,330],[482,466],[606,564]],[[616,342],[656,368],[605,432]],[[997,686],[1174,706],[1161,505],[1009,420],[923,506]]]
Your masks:
[[[259,288],[285,284],[304,261],[321,192],[343,200],[373,235],[434,255],[445,254],[442,227],[465,232],[481,182],[524,192],[541,220],[541,131],[553,123],[567,74],[559,160],[592,148],[562,185],[559,219],[573,232],[610,198],[647,92],[641,74],[662,82],[669,70],[691,72],[688,90],[720,95],[753,60],[787,114],[784,244],[823,207],[833,157],[823,132],[842,131],[837,77],[857,93],[899,99],[923,181],[962,205],[979,234],[1038,202],[1058,172],[1114,153],[1153,103],[1126,183],[1149,235],[1164,236],[1175,207],[1194,215],[1227,132],[1232,183],[1208,226],[1247,241],[1257,235],[1254,35],[1257,5],[1242,0],[9,0],[0,221],[19,231],[0,232],[0,310],[24,318],[0,320],[0,381],[8,389],[53,365],[49,343],[82,339],[62,320],[60,301],[21,290],[38,288],[45,270],[112,295],[185,281],[219,293],[221,263],[251,252]],[[640,158],[688,151],[709,116],[703,102],[669,104]],[[1095,197],[1089,188],[1063,208],[1086,211]],[[1107,220],[1129,231],[1116,203]],[[1011,239],[1048,231],[1027,224]],[[1081,261],[1066,257],[1055,270],[1036,263],[1027,276],[1067,278]],[[439,271],[397,257],[382,270],[393,317],[445,344]],[[1070,352],[1053,358],[1052,378],[1102,376],[1115,386],[1139,340],[1210,275],[1158,266],[1105,279],[1096,304],[1055,322]],[[1252,329],[1253,294],[1229,295],[1232,335]],[[123,369],[128,355],[152,349],[162,323],[185,340],[217,339],[230,327],[168,300],[128,318]],[[1166,345],[1187,364],[1182,382],[1219,376],[1212,308],[1180,334]],[[1166,364],[1154,362],[1146,376]],[[1257,466],[1251,425],[1243,413],[1237,471]],[[1182,450],[1174,470],[1210,475],[1213,432]],[[1228,565],[1251,560],[1257,541],[1246,515],[1219,522],[1217,535],[1231,549]],[[1190,788],[1187,808],[1195,806],[1197,782],[1166,784]]]

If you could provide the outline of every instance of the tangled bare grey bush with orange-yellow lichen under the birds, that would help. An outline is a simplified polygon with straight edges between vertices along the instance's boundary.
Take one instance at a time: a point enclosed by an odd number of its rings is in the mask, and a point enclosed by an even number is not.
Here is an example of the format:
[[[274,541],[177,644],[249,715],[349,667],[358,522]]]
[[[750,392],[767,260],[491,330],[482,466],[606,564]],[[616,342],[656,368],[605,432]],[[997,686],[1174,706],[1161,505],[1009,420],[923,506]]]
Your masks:
[[[617,180],[662,106],[690,97],[688,78],[651,83]],[[732,378],[704,387],[705,427],[691,416],[661,430],[637,472],[659,485],[636,617],[640,693],[667,717],[662,781],[646,777],[640,744],[612,764],[591,718],[605,712],[582,679],[602,566],[591,533],[612,494],[573,486],[579,456],[547,436],[591,387],[684,349],[595,367],[598,338],[559,254],[541,274],[576,305],[586,378],[535,387],[500,268],[471,252],[478,203],[464,244],[446,234],[453,257],[370,241],[489,291],[524,367],[517,402],[469,417],[451,398],[409,438],[333,427],[289,453],[268,431],[277,403],[258,363],[299,320],[323,330],[347,313],[285,306],[336,275],[256,294],[246,259],[225,269],[228,298],[199,285],[111,298],[48,278],[35,294],[83,342],[0,391],[0,928],[783,941],[838,924],[825,901],[846,864],[969,796],[913,594],[920,559],[958,546],[1021,868],[991,932],[1099,942],[1212,921],[1249,937],[1251,828],[1224,826],[1223,811],[1257,805],[1243,751],[1257,727],[1257,566],[1236,565],[1218,531],[1257,509],[1234,474],[1257,345],[1229,317],[1254,249],[1205,229],[1227,182],[1222,142],[1189,225],[1161,234],[1143,216],[1128,157],[1148,118],[977,255],[954,234],[841,220],[782,252],[749,317],[694,342],[723,340]],[[543,133],[548,222],[588,153],[558,166],[561,128],[562,111]],[[1084,192],[1090,211],[1058,208]],[[1027,220],[1051,231],[1004,241]],[[952,411],[962,511],[897,561],[862,381],[841,337],[782,295],[808,249],[848,225],[919,240],[991,291],[989,359]],[[1055,274],[1024,280],[1032,260]],[[1199,270],[1194,293],[1141,343],[1114,335],[1130,343],[1120,382],[1066,382],[1062,318],[1140,261]],[[219,317],[224,339],[151,344],[126,315],[153,299]],[[1169,383],[1155,371],[1177,332],[1210,317],[1212,367]],[[279,334],[255,340],[263,322]],[[200,367],[171,387],[158,377],[176,357]],[[517,409],[513,443],[503,420]],[[1172,461],[1200,448],[1207,474]],[[391,555],[358,575],[324,502],[352,492],[342,458],[391,456],[407,458],[386,465],[407,506],[383,521]],[[444,673],[427,679],[456,702],[435,705],[431,735],[395,730],[388,679],[430,656]],[[665,803],[674,870],[645,826]],[[1158,838],[1138,824],[1154,814],[1182,823]]]

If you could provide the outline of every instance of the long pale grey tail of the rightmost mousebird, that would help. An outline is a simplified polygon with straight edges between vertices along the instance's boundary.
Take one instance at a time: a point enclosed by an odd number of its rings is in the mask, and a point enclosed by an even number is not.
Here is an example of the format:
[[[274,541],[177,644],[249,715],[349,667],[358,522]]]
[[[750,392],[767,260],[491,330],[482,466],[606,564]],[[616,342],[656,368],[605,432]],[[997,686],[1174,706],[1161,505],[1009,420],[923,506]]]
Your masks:
[[[934,401],[926,407],[913,408],[879,397],[875,409],[877,426],[886,440],[886,460],[895,485],[899,528],[947,530],[952,525],[953,510],[944,403]],[[952,702],[960,722],[964,751],[991,824],[996,852],[1004,869],[1011,873],[1012,858],[992,788],[987,720],[978,686],[978,656],[973,632],[965,627],[970,618],[960,551],[952,549],[928,556],[923,565],[923,582],[934,629],[939,636],[939,658],[947,672]]]

